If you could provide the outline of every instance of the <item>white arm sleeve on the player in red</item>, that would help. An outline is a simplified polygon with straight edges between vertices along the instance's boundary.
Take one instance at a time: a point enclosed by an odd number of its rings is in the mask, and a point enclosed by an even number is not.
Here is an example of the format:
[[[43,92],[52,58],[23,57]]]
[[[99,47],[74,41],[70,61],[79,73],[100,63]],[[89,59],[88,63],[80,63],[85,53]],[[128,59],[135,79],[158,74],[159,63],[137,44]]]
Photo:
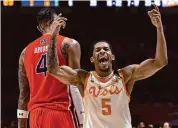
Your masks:
[[[82,96],[75,85],[70,85],[70,93],[72,96],[73,104],[76,109],[77,117],[80,124],[84,122],[84,106],[82,103]]]

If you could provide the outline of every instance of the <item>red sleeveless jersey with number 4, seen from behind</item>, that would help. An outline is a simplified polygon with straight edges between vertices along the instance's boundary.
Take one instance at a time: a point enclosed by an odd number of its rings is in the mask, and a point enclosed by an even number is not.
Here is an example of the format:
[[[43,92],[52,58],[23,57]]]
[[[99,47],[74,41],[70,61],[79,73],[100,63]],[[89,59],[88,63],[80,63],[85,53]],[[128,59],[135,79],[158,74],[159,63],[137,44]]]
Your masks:
[[[43,35],[30,43],[25,50],[24,65],[30,86],[28,111],[37,107],[56,110],[69,110],[70,97],[68,86],[47,73],[47,51],[50,34]],[[65,37],[57,36],[57,53],[60,65],[67,62],[61,53]]]

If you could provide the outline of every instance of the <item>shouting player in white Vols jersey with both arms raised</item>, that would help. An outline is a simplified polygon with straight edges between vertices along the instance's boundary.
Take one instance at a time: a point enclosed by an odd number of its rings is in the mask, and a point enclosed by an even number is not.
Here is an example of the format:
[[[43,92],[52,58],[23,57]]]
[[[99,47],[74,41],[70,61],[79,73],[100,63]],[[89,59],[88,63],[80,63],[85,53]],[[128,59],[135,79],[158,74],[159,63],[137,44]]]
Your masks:
[[[152,24],[157,30],[157,48],[155,58],[122,69],[115,69],[112,62],[115,56],[109,43],[99,41],[93,47],[90,58],[95,71],[73,70],[68,66],[59,66],[56,45],[56,27],[47,54],[48,72],[59,81],[70,85],[82,83],[84,89],[84,128],[131,128],[129,110],[130,94],[136,81],[152,76],[167,63],[167,48],[157,6],[148,12]],[[57,24],[56,24],[57,25]]]

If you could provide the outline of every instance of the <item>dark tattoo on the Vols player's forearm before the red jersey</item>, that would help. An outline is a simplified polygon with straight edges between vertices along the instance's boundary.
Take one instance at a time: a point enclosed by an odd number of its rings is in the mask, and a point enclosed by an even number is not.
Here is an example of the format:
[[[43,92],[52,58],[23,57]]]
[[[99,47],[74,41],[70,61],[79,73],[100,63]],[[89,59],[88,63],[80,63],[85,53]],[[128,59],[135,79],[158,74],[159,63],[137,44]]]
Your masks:
[[[56,37],[52,37],[47,53],[47,67],[49,72],[53,72],[58,66]]]

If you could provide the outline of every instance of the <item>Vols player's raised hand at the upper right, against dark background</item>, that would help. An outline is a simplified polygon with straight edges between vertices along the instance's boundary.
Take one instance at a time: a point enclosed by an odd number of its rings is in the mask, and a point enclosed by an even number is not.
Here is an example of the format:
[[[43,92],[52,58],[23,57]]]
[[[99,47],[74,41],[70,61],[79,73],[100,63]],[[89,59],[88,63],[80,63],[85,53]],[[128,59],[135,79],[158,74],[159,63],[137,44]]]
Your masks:
[[[159,8],[154,4],[154,9],[151,11],[148,11],[148,15],[151,19],[152,24],[157,28],[157,29],[162,29],[162,21],[161,21],[161,14],[159,12]]]

